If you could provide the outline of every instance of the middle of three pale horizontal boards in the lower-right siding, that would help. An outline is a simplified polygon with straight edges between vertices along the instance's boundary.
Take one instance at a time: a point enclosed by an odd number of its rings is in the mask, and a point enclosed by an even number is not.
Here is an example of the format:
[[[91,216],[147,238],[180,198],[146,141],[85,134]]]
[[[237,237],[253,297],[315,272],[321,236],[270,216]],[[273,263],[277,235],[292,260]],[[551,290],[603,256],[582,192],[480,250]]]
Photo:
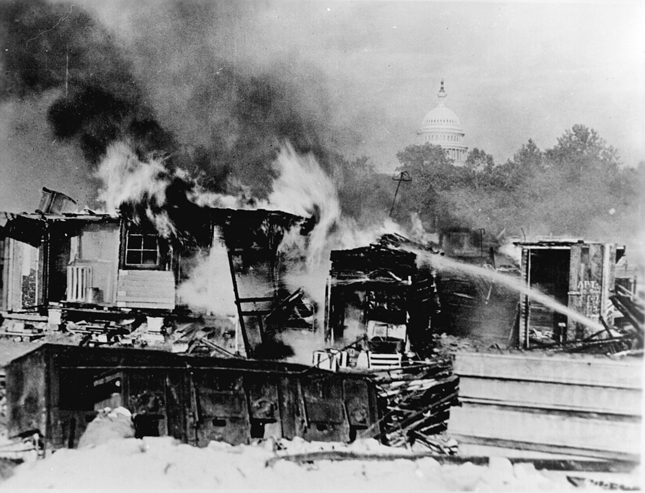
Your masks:
[[[594,387],[559,383],[461,377],[462,402],[507,404],[542,409],[561,409],[640,416],[642,391],[633,388]]]

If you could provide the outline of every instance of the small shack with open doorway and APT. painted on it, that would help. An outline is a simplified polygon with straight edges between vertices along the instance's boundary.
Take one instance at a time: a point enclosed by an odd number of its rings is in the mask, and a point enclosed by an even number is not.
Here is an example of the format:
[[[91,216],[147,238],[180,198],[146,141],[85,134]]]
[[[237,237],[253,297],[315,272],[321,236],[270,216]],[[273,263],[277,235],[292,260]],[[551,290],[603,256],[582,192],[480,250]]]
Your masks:
[[[604,325],[613,324],[610,300],[615,290],[616,263],[625,248],[611,243],[583,240],[515,243],[522,249],[521,277],[526,286],[555,299],[563,307]],[[519,345],[544,334],[557,343],[582,340],[590,329],[531,296],[521,297]],[[608,334],[610,331],[608,330]]]

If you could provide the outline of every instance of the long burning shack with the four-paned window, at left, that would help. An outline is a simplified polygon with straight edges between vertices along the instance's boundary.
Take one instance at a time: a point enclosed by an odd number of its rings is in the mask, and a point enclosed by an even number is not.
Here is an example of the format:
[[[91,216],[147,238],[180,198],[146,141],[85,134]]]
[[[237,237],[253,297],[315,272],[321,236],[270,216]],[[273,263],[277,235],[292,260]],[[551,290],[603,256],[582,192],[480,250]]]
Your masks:
[[[161,329],[218,312],[239,326],[230,339],[241,336],[246,356],[266,341],[264,316],[288,295],[277,250],[291,228],[306,234],[305,219],[195,206],[184,220],[188,232],[163,235],[135,220],[143,215],[64,212],[64,199],[49,198],[55,193],[47,190],[35,213],[5,214],[6,319],[52,328],[83,321],[96,330],[134,319]]]

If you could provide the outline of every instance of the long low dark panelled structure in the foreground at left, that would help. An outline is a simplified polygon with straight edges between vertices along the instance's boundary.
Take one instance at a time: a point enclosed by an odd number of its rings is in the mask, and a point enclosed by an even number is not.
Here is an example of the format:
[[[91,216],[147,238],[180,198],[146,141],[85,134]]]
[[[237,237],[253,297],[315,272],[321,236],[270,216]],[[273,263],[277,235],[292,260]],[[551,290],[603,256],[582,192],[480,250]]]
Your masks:
[[[46,344],[6,366],[6,385],[9,436],[37,432],[48,449],[74,448],[99,410],[117,406],[137,437],[199,447],[379,434],[370,376],[277,361]]]

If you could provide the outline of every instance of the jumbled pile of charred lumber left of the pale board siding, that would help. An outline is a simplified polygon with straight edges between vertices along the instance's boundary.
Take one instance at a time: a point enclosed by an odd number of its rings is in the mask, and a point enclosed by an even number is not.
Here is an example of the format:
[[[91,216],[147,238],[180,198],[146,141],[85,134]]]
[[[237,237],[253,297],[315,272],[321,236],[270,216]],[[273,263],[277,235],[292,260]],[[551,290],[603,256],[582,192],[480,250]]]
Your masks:
[[[450,407],[458,404],[459,377],[450,359],[379,370],[375,381],[383,413],[377,438],[395,447],[418,443],[438,453],[457,452],[456,443],[437,437],[446,430]]]

